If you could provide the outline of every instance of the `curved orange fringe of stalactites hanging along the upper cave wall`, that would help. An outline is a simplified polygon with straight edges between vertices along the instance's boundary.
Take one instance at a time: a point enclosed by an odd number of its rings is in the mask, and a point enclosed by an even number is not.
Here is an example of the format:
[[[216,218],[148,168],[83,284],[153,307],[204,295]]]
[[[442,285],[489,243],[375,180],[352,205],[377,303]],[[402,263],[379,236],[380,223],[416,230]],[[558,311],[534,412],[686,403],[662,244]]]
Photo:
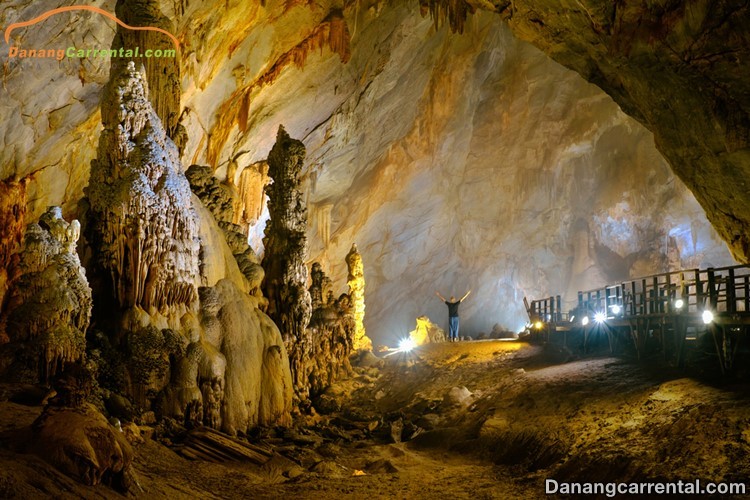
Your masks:
[[[237,89],[221,105],[217,112],[216,125],[211,130],[208,143],[206,159],[209,165],[216,167],[219,155],[235,125],[243,132],[247,129],[251,104],[250,96],[266,85],[275,82],[288,66],[294,65],[303,68],[307,56],[315,50],[322,51],[324,47],[329,47],[333,53],[338,54],[342,63],[347,63],[351,57],[351,36],[344,14],[339,9],[332,10],[309,36],[291,50],[282,54],[265,73],[253,82]]]

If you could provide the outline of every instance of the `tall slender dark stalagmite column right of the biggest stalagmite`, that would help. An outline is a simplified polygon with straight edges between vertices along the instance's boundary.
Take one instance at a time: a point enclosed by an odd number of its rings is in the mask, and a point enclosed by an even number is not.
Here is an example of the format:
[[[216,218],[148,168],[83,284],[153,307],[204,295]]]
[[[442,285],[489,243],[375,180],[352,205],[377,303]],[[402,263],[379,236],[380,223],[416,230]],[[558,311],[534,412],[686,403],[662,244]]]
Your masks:
[[[307,209],[299,191],[304,158],[305,146],[279,127],[276,144],[268,155],[268,173],[273,183],[267,188],[271,218],[266,224],[262,262],[267,312],[281,331],[295,390],[301,399],[307,397],[300,370],[307,355],[305,338],[311,315],[305,266]]]

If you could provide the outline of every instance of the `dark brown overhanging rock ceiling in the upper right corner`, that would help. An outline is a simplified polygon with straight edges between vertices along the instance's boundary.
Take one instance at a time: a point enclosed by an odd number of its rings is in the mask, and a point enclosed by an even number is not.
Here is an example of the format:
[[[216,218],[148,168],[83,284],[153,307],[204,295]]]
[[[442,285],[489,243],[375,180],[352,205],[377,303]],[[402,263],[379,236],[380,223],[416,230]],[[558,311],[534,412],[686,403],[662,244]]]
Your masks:
[[[750,28],[744,2],[547,0],[431,2],[451,27],[471,4],[609,94],[654,133],[659,151],[706,210],[740,262],[750,260]],[[688,125],[689,124],[689,125]],[[744,174],[741,174],[744,175]]]

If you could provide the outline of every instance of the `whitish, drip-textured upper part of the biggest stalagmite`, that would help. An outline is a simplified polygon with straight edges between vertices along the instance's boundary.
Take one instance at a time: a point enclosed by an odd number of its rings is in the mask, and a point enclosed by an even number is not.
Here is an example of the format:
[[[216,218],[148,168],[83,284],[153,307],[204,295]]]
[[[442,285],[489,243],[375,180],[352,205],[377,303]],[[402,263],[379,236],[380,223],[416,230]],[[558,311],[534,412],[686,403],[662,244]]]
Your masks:
[[[167,314],[197,298],[199,242],[190,187],[132,62],[113,76],[108,92],[86,188],[88,239],[121,307]]]

